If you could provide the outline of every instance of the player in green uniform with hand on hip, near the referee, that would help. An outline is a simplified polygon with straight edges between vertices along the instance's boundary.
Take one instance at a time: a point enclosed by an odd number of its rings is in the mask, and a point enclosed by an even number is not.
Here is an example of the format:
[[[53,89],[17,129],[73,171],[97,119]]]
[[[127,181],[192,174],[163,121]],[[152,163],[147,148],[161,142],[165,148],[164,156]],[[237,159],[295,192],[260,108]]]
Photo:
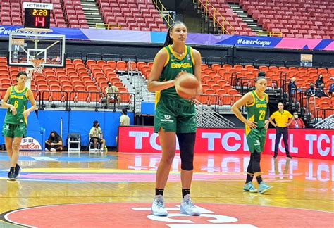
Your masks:
[[[256,90],[242,96],[242,99],[235,102],[232,106],[232,111],[235,116],[245,123],[245,133],[249,152],[251,153],[249,164],[247,167],[247,179],[244,186],[244,191],[258,192],[252,184],[253,177],[256,177],[259,183],[259,194],[271,189],[271,186],[266,185],[261,177],[261,153],[264,151],[264,143],[266,141],[266,131],[269,121],[266,120],[267,103],[269,101],[266,91],[267,80],[265,77],[256,79]],[[239,108],[247,107],[247,119],[240,113]]]

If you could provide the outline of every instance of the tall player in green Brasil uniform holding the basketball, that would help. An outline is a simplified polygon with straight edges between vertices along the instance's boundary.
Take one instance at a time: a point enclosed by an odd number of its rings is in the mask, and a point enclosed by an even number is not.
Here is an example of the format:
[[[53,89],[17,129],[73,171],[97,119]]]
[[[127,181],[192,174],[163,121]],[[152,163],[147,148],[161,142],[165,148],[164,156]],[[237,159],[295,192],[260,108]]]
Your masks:
[[[178,96],[175,91],[175,78],[189,72],[201,82],[201,54],[185,45],[187,27],[176,21],[169,27],[166,42],[154,58],[151,75],[147,83],[149,91],[156,91],[156,113],[154,132],[158,132],[162,157],[156,172],[156,196],[152,203],[152,213],[167,216],[163,204],[165,189],[171,164],[175,156],[175,134],[180,144],[181,183],[183,201],[180,212],[199,215],[199,209],[190,199],[196,122],[194,103]],[[199,92],[202,85],[199,86]]]

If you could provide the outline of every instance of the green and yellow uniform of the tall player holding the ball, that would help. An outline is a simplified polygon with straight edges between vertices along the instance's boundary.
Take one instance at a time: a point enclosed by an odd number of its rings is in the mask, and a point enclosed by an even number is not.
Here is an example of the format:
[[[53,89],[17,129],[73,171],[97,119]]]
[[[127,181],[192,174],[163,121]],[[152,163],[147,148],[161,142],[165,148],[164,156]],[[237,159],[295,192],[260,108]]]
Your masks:
[[[181,70],[194,73],[194,58],[190,46],[185,46],[183,56],[177,56],[171,45],[164,47],[163,50],[167,53],[167,60],[159,82],[175,79]],[[178,96],[175,87],[156,92],[154,132],[159,132],[162,127],[166,132],[194,133],[195,115],[194,104]]]

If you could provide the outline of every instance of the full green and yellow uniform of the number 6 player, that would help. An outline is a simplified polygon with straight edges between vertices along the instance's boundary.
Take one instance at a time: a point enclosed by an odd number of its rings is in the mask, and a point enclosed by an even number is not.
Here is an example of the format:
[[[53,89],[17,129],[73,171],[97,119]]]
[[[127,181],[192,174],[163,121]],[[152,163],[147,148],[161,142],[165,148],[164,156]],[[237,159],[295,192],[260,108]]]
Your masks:
[[[2,128],[2,135],[4,137],[16,138],[27,136],[27,119],[23,115],[23,112],[27,108],[27,91],[27,88],[18,91],[15,86],[11,87],[7,103],[16,108],[16,115],[13,115],[11,109],[8,108],[4,127]]]

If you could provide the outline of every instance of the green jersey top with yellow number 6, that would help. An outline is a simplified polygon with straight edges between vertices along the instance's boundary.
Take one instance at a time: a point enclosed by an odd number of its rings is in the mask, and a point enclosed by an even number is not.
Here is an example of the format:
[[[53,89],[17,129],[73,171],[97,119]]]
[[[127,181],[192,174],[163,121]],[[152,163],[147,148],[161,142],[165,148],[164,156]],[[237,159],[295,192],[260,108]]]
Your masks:
[[[16,108],[16,115],[13,115],[11,109],[8,108],[4,123],[13,125],[19,125],[24,122],[27,123],[27,120],[23,115],[23,112],[27,108],[27,90],[26,87],[21,91],[16,90],[15,86],[11,87],[11,93],[9,94],[7,103]]]

